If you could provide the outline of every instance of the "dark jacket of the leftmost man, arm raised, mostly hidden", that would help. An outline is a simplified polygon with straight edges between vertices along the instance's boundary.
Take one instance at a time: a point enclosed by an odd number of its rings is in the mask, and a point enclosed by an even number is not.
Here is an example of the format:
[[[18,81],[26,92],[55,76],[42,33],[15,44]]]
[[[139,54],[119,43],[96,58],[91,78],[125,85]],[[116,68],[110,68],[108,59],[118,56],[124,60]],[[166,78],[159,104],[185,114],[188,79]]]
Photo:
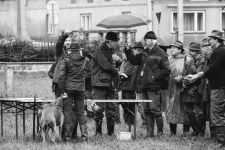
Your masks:
[[[64,46],[64,42],[66,40],[66,38],[68,37],[68,35],[61,35],[59,37],[59,39],[57,40],[56,43],[56,49],[55,49],[55,69],[54,69],[54,75],[53,75],[53,80],[52,82],[54,83],[58,83],[58,79],[59,79],[59,67],[61,64],[61,61],[63,59],[63,57],[66,55],[66,51],[64,50],[63,46]]]

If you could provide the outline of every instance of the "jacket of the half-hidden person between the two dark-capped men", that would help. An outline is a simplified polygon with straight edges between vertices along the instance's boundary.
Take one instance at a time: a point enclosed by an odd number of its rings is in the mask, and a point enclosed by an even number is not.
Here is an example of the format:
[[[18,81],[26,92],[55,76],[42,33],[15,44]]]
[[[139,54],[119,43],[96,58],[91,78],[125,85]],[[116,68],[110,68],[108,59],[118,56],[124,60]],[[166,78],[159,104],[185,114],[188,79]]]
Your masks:
[[[130,61],[123,60],[120,66],[120,72],[127,75],[127,78],[124,76],[120,76],[120,90],[132,90],[131,89],[131,79],[134,77],[134,71],[137,66],[132,65]]]

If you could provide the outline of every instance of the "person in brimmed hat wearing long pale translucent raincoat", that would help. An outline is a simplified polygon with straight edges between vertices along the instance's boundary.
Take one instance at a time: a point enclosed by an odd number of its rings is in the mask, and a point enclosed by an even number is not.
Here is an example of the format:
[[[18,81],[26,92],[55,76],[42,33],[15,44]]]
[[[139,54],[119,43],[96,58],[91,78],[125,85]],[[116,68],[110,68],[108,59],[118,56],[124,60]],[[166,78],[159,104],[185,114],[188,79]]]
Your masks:
[[[183,43],[176,41],[171,44],[171,55],[169,56],[171,74],[169,79],[169,91],[167,100],[166,120],[170,126],[171,135],[176,135],[177,124],[183,124],[183,135],[189,132],[190,125],[184,115],[184,103],[181,99],[181,86],[176,83],[174,78],[178,78],[184,71],[184,63],[189,57],[185,56]]]

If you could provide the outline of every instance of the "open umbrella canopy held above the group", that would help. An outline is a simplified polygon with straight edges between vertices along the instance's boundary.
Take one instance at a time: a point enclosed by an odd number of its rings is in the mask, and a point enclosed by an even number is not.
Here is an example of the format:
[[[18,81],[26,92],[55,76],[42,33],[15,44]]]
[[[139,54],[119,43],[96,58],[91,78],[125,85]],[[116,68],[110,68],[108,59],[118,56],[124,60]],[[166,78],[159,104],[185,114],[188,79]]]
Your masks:
[[[97,24],[99,27],[106,29],[109,28],[131,28],[142,25],[147,25],[150,20],[143,20],[142,18],[132,16],[132,15],[117,15],[112,16],[106,19],[103,19],[100,23]]]

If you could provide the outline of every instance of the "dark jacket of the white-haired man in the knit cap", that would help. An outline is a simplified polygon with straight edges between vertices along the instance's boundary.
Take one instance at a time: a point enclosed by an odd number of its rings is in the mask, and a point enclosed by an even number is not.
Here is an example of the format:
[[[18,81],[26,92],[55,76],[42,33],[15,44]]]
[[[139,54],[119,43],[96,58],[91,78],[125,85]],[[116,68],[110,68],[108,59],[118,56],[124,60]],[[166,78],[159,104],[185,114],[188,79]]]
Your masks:
[[[170,67],[167,54],[156,44],[151,50],[144,50],[139,55],[134,56],[131,50],[125,51],[127,59],[134,65],[140,65],[135,72],[134,80],[141,81],[142,90],[165,89],[165,82],[170,76]],[[140,79],[138,79],[140,78]],[[132,81],[132,84],[137,81]],[[135,87],[135,85],[131,85]]]

